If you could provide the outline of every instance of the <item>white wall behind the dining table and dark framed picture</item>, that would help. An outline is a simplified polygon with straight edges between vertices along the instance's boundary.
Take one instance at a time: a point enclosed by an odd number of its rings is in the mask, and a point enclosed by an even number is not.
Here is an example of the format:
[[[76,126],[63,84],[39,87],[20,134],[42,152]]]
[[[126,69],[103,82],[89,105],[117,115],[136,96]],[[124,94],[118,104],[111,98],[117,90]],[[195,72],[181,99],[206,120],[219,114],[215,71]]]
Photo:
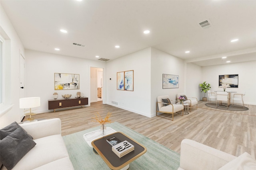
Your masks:
[[[244,63],[230,63],[216,66],[202,67],[202,80],[211,84],[211,91],[222,90],[218,88],[219,75],[238,74],[238,88],[228,88],[228,90],[238,93],[246,92],[244,103],[256,105],[256,61]]]

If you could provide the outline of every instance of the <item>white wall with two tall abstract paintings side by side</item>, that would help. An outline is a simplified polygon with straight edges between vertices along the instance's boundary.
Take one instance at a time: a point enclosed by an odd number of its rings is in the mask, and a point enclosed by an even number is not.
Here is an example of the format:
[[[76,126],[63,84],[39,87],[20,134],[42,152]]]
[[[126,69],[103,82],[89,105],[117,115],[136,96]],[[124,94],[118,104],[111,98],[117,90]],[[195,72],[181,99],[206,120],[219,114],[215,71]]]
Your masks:
[[[151,48],[108,61],[107,104],[150,117]],[[134,91],[116,90],[116,73],[134,70]],[[110,80],[111,78],[111,80]],[[118,105],[112,104],[118,102]]]

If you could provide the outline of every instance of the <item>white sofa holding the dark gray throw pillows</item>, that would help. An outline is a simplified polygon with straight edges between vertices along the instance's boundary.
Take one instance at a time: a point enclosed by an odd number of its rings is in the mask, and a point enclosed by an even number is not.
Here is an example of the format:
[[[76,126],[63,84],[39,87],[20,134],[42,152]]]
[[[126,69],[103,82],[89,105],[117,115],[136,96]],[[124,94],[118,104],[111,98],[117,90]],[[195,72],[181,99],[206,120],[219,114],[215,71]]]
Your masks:
[[[21,158],[12,170],[74,170],[61,136],[58,118],[20,124],[36,145]],[[2,167],[1,170],[7,170]]]

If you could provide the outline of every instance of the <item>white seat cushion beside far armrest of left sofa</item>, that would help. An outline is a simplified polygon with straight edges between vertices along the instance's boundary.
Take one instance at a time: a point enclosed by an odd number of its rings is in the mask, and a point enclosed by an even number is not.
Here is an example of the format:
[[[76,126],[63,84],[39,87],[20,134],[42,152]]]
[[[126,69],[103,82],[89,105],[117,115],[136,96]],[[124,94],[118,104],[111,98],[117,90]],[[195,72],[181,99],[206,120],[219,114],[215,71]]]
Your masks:
[[[34,169],[60,158],[68,157],[68,151],[61,135],[51,135],[34,141],[36,146],[14,166],[13,170]]]

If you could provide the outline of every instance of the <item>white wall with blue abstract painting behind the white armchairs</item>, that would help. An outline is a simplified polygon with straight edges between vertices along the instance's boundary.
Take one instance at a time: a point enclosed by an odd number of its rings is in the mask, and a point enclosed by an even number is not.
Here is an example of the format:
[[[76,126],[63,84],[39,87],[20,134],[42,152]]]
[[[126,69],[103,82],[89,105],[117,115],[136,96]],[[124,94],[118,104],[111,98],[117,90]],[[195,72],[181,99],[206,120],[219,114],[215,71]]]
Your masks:
[[[163,89],[163,74],[179,76],[179,88]],[[151,117],[156,116],[156,97],[169,95],[176,100],[176,94],[184,92],[184,61],[163,51],[152,48],[151,54]]]

